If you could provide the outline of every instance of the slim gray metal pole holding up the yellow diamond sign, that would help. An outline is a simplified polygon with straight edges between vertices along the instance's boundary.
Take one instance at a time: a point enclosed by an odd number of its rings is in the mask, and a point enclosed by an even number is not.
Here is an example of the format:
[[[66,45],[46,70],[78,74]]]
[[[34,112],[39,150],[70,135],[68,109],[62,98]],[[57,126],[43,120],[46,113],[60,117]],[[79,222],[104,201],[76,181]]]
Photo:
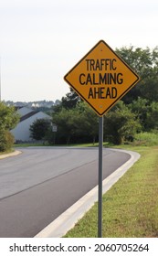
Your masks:
[[[99,118],[99,207],[98,207],[98,237],[102,237],[102,146],[103,117]]]

